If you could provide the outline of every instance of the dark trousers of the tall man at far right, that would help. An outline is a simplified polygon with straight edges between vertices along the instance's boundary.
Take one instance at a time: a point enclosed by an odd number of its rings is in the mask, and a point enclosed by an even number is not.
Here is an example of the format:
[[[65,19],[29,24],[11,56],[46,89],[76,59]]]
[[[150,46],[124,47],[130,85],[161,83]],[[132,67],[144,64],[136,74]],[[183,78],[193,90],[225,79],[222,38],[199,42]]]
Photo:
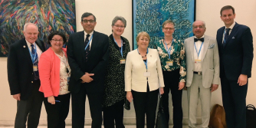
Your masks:
[[[238,80],[228,80],[221,77],[222,102],[226,113],[228,128],[246,127],[246,95],[248,84],[239,86]]]

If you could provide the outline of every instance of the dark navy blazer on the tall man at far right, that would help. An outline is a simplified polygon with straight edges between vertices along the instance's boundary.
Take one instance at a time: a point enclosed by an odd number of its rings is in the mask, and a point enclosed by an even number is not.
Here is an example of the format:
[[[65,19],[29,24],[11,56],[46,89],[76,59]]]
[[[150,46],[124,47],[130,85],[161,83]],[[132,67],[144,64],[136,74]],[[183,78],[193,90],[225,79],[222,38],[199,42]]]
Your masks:
[[[246,74],[248,78],[251,77],[251,65],[254,56],[251,29],[235,23],[228,41],[222,44],[224,31],[225,26],[217,31],[221,78],[224,77],[224,72],[228,80],[238,80],[240,74]]]

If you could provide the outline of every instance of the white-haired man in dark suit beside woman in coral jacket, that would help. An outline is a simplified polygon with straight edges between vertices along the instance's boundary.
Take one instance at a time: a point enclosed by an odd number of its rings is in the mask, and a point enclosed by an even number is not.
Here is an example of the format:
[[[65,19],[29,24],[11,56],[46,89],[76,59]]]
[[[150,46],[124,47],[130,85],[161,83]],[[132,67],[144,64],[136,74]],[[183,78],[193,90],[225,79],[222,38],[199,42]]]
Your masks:
[[[25,38],[10,45],[8,52],[8,82],[11,95],[17,100],[15,128],[38,127],[44,94],[39,92],[38,61],[45,51],[38,39],[38,27],[33,23],[24,25]]]

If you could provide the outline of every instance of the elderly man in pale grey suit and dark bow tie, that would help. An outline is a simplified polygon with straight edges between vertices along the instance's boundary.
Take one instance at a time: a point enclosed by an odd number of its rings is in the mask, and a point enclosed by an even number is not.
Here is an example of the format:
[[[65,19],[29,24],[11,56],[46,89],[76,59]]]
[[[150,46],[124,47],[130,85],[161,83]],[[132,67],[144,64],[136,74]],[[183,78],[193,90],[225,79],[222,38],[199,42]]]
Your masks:
[[[189,100],[189,127],[196,127],[199,98],[202,104],[202,127],[208,127],[211,93],[218,89],[219,57],[215,38],[205,35],[205,22],[192,25],[195,36],[184,42],[187,65],[186,87]]]

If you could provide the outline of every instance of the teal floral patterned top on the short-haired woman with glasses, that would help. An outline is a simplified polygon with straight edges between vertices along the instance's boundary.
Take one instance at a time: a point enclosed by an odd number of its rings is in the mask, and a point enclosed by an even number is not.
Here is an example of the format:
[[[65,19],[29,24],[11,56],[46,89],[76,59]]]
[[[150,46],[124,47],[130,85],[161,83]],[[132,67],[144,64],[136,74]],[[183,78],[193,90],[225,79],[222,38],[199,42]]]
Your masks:
[[[156,49],[159,53],[161,60],[162,71],[175,71],[180,68],[179,74],[180,82],[185,82],[186,70],[185,70],[185,48],[182,41],[174,39],[171,46],[171,55],[170,59],[173,61],[172,66],[166,64],[166,61],[169,59],[169,54],[166,51],[166,44],[164,40],[159,40],[153,44],[153,48]]]

